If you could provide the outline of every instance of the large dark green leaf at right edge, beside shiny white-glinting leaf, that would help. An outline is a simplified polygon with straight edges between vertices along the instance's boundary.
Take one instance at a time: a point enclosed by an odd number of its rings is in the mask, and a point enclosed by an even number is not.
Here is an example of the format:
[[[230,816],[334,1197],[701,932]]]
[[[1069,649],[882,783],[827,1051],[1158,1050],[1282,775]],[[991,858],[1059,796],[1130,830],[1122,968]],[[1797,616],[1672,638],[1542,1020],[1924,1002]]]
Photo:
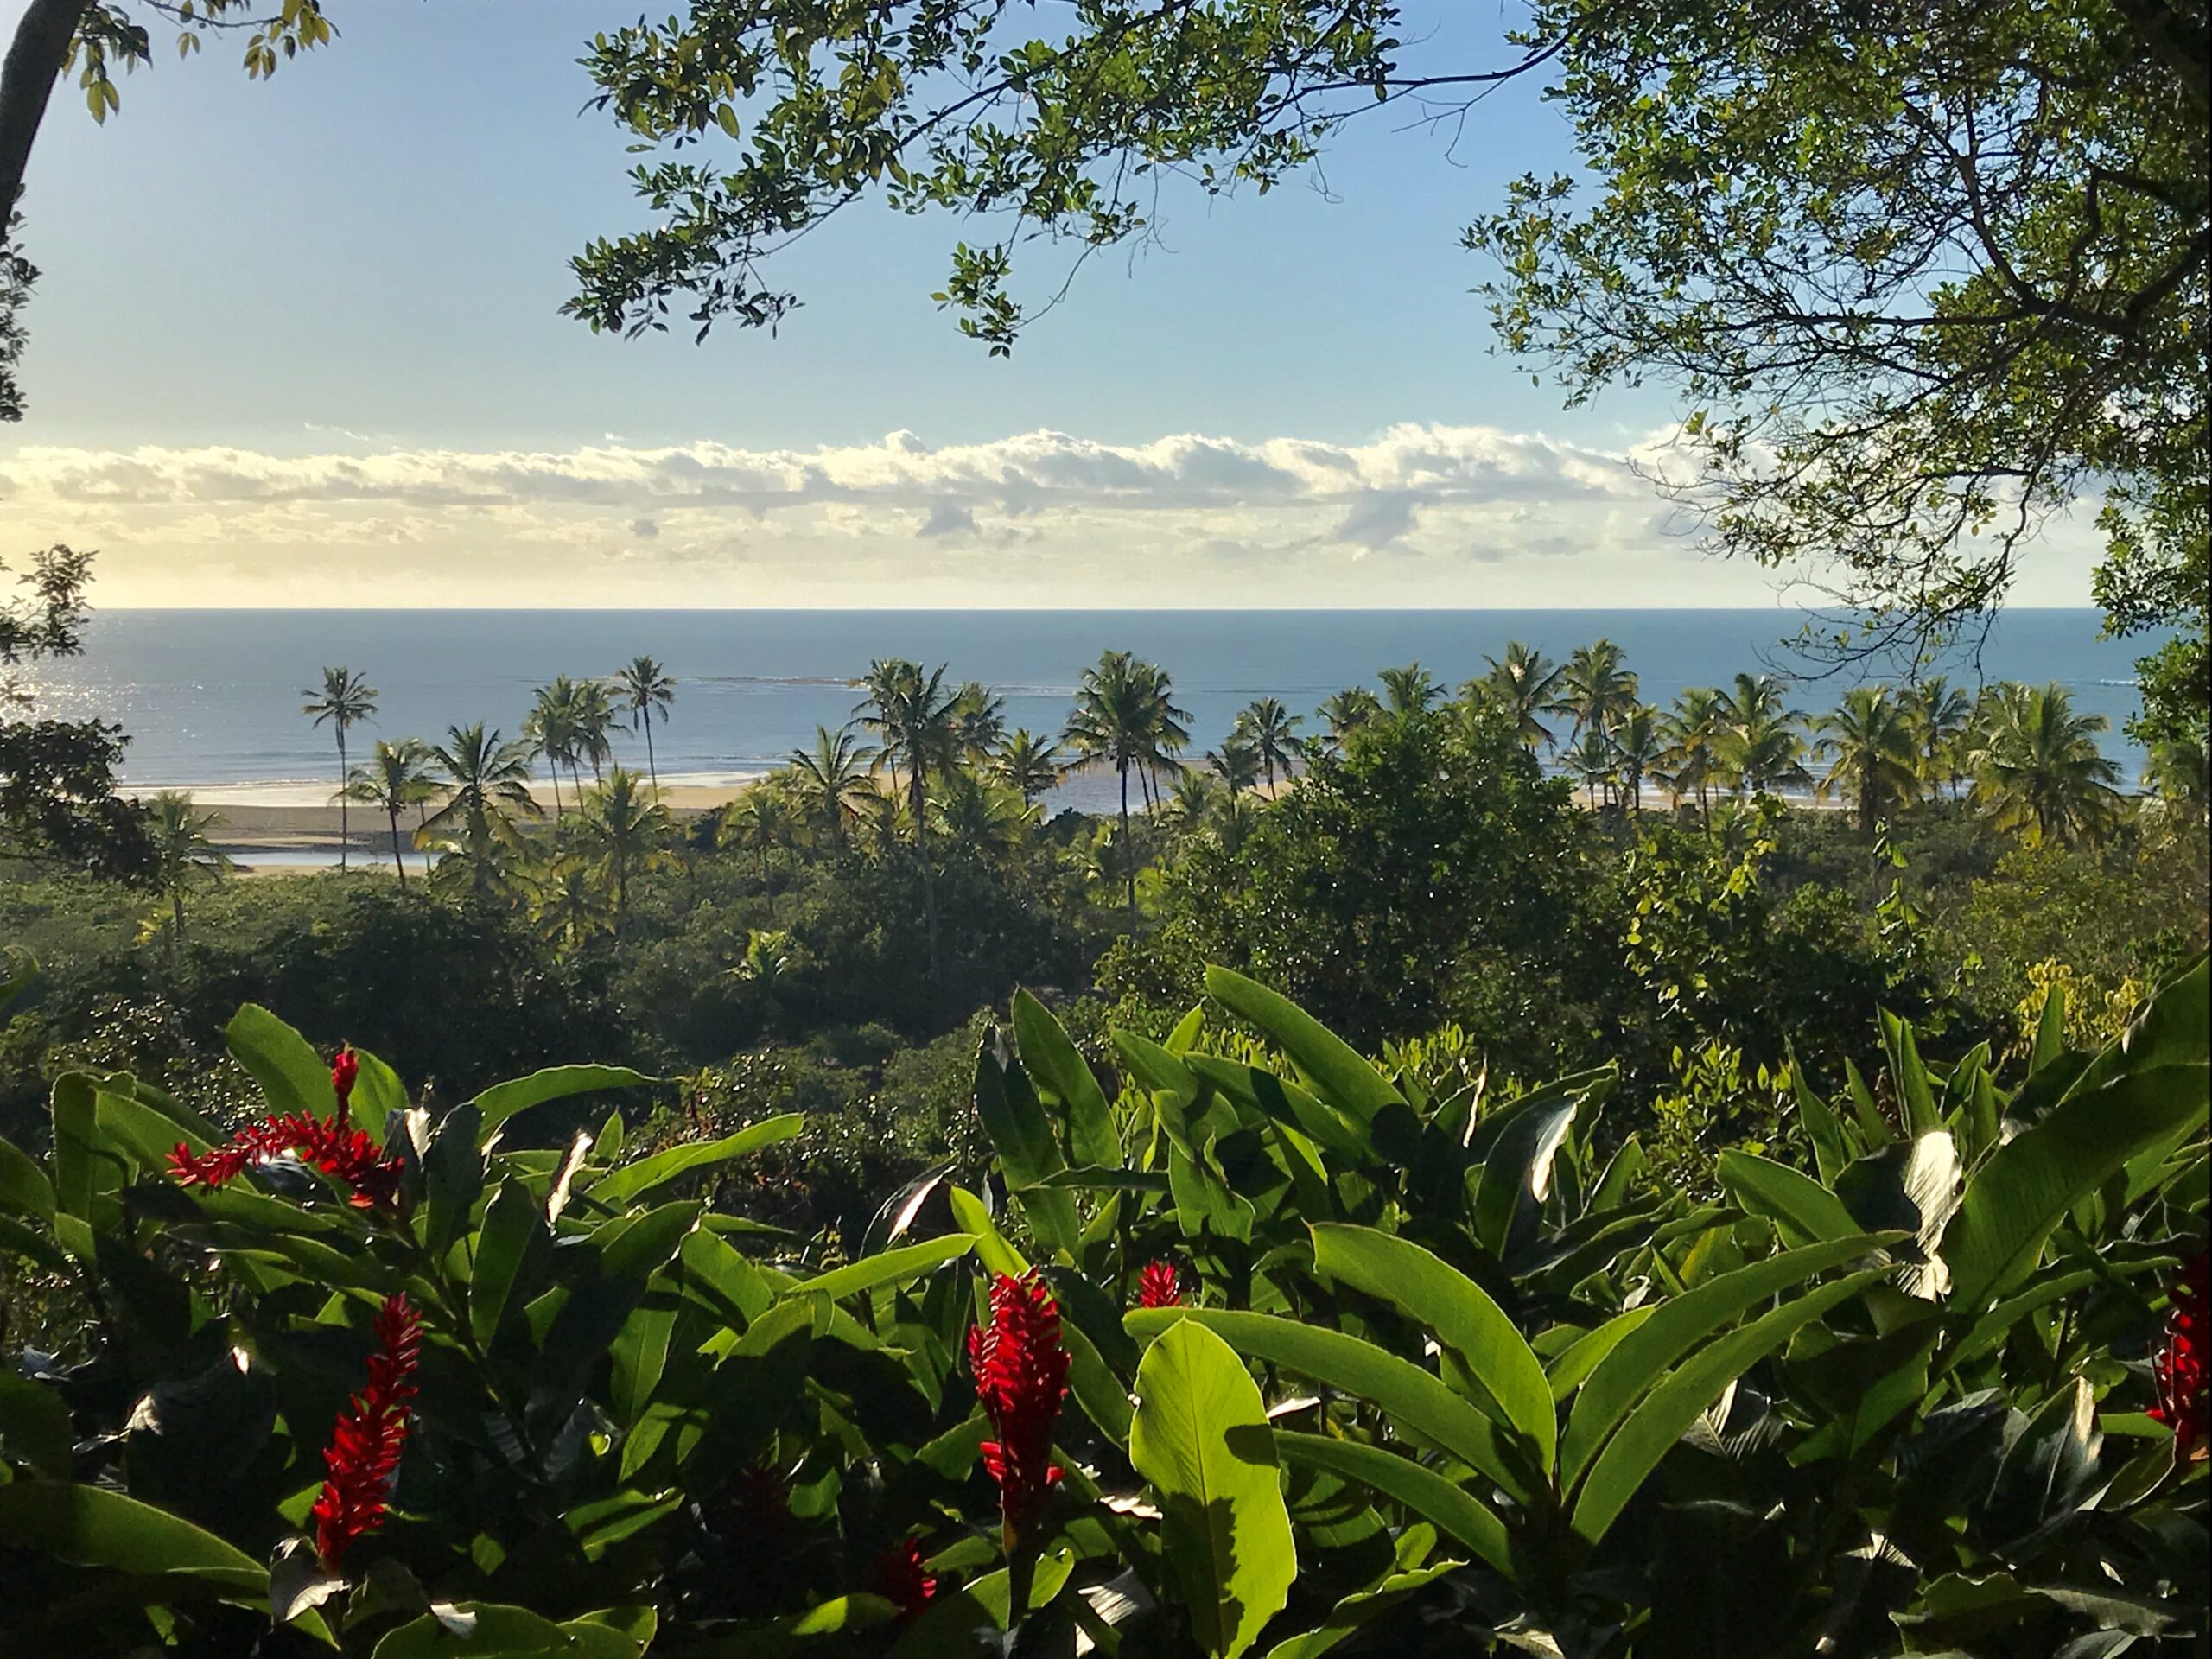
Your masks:
[[[2066,1095],[1991,1152],[1942,1234],[1951,1305],[1973,1314],[2011,1290],[2075,1203],[2137,1152],[2203,1124],[2205,1104],[2203,1064],[2152,1066]]]

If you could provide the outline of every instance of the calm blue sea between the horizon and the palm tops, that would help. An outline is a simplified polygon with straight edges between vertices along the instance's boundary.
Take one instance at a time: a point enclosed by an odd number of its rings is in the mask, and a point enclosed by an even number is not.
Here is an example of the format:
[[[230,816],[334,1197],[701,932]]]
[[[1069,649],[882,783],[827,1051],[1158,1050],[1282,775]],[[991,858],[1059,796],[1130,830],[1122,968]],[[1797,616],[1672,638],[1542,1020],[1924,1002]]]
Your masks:
[[[1781,611],[102,611],[84,657],[42,670],[42,710],[119,721],[133,787],[184,785],[206,801],[325,801],[330,732],[299,708],[325,664],[363,672],[380,712],[354,743],[522,726],[553,675],[604,675],[639,653],[679,681],[655,730],[664,781],[723,783],[781,763],[841,726],[852,679],[874,657],[949,664],[1006,699],[1006,723],[1057,732],[1084,664],[1133,650],[1175,677],[1194,750],[1219,743],[1239,708],[1274,695],[1310,712],[1332,690],[1420,661],[1442,684],[1482,672],[1526,639],[1551,657],[1619,641],[1644,699],[1736,670],[1798,670],[1794,701],[1836,701],[1845,677],[1814,679],[1781,641]],[[1980,650],[1991,679],[2062,681],[2104,714],[2108,752],[2132,783],[2141,754],[2121,734],[2135,712],[2135,641],[2097,639],[2095,611],[2011,611]],[[1973,661],[1951,664],[1975,679]],[[635,748],[644,765],[644,748]],[[241,785],[248,785],[241,790]],[[1075,785],[1073,803],[1099,785]],[[1102,796],[1099,796],[1102,799]]]

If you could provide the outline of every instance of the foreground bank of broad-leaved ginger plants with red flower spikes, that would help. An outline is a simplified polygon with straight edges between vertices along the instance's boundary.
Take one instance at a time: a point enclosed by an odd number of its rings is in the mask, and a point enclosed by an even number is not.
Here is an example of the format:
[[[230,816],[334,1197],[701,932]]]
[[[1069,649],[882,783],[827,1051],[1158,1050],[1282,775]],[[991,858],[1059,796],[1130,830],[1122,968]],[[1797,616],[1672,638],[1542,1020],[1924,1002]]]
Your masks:
[[[1595,1152],[1604,1071],[1438,1091],[1208,993],[1104,1077],[1018,998],[984,1179],[845,1248],[730,1179],[796,1115],[529,1150],[617,1068],[431,1113],[248,1006],[228,1146],[64,1075],[51,1155],[0,1146],[0,1248],[84,1321],[0,1374],[0,1632],[2201,1650],[2203,960],[2099,1053],[2053,998],[2020,1082],[1885,1022],[1876,1086],[1801,1091],[1717,1203]]]

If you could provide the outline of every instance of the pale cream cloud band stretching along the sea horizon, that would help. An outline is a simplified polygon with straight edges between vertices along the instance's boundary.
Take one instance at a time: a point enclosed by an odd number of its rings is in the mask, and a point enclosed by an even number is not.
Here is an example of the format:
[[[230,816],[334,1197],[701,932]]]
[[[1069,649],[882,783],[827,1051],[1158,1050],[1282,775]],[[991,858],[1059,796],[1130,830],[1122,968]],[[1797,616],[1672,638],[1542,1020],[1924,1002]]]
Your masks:
[[[327,434],[336,429],[319,429]],[[1641,453],[1641,447],[1637,447]],[[821,449],[0,451],[22,551],[102,604],[1743,604],[1619,453],[1495,427],[1369,442],[1031,431]],[[13,549],[0,549],[13,551]]]

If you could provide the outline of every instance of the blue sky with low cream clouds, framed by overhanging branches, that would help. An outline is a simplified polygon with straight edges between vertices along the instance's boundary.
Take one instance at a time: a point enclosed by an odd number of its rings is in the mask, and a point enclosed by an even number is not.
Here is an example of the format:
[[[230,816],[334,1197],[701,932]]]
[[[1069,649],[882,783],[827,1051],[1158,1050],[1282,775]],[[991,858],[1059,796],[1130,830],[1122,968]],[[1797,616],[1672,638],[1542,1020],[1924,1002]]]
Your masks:
[[[792,252],[781,336],[695,347],[557,316],[568,257],[644,215],[575,66],[626,13],[330,11],[268,84],[157,31],[117,117],[64,84],[40,135],[0,493],[100,544],[111,604],[1770,602],[1597,478],[1661,396],[1564,411],[1489,349],[1458,234],[1566,166],[1533,86],[1458,144],[1363,117],[1329,195],[1170,195],[1166,246],[1095,259],[1011,361],[929,301],[975,230],[872,206]],[[1493,4],[1413,11],[1440,62],[1504,51]]]

